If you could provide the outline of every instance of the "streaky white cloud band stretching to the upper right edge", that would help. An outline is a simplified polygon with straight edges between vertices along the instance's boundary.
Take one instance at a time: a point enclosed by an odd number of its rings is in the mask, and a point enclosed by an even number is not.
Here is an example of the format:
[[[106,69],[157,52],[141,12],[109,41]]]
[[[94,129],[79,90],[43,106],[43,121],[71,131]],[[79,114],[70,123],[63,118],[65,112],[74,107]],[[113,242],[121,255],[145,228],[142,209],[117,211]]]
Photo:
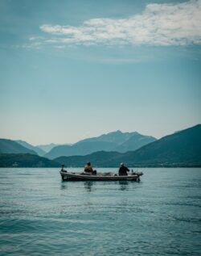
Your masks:
[[[40,29],[52,36],[46,44],[200,44],[201,0],[149,4],[128,19],[88,19],[80,27],[43,24]]]

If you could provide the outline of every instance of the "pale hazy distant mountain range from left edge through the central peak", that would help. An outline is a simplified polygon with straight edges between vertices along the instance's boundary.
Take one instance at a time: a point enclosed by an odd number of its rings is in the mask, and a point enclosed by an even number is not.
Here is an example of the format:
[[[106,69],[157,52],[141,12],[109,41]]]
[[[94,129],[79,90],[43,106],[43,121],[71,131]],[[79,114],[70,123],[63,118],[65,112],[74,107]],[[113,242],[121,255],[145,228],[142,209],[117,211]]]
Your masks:
[[[33,146],[27,141],[0,139],[0,153],[36,153],[39,156],[54,159],[61,156],[86,155],[96,151],[126,152],[135,150],[152,141],[153,136],[144,136],[138,132],[109,132],[101,136],[78,141],[75,144]],[[50,150],[49,152],[47,150]]]

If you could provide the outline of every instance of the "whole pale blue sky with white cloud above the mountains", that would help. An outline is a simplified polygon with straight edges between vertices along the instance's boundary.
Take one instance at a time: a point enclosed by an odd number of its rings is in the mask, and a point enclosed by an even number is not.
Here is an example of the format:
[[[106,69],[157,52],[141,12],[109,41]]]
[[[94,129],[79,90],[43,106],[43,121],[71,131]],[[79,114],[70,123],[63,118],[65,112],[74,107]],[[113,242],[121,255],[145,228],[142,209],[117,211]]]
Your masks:
[[[1,0],[0,137],[201,124],[201,0]]]

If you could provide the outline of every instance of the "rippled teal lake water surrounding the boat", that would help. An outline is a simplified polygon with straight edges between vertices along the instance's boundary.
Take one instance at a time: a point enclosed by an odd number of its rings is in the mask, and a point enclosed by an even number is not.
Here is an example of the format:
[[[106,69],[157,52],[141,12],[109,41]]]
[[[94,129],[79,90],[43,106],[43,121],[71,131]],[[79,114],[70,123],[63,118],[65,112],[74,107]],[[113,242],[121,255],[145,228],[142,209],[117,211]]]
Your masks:
[[[139,183],[62,182],[1,168],[0,255],[201,255],[201,169],[139,170]]]

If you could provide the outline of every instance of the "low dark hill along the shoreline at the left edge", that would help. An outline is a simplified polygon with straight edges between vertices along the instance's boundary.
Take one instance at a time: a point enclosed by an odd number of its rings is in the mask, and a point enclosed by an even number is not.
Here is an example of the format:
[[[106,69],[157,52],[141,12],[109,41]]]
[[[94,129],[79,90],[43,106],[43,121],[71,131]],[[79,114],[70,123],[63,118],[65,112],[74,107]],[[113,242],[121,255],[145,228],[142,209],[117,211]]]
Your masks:
[[[45,157],[30,153],[0,153],[0,167],[59,167],[58,162],[54,162]]]

